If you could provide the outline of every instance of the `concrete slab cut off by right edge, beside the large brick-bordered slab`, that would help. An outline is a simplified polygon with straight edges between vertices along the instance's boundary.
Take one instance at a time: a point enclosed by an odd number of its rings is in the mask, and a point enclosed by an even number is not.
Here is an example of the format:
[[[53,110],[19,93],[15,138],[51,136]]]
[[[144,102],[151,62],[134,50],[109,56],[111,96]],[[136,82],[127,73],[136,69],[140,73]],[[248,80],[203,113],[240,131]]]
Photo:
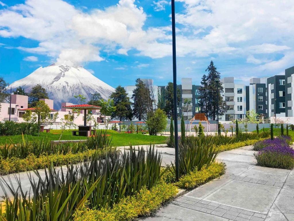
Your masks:
[[[294,213],[294,191],[292,189],[281,189],[275,204],[282,213]]]

